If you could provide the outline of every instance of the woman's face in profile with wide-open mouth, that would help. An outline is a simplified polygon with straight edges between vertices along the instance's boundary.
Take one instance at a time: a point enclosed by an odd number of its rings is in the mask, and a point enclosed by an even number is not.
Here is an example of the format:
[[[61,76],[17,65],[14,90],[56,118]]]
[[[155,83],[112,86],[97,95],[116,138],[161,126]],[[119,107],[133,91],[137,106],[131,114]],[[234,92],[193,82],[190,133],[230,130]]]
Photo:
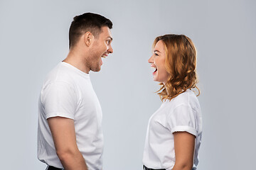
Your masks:
[[[153,55],[149,58],[149,63],[154,69],[153,77],[154,81],[166,83],[169,74],[165,67],[166,52],[164,50],[164,42],[159,40],[153,50]]]

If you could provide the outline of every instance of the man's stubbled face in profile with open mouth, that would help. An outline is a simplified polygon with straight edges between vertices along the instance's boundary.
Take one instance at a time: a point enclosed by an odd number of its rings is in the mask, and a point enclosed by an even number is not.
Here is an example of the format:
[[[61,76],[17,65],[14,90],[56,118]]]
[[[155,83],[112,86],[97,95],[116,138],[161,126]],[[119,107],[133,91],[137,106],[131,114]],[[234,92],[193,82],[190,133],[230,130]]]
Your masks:
[[[113,52],[111,42],[112,36],[110,28],[107,26],[102,27],[100,35],[92,42],[90,57],[88,57],[86,61],[90,70],[93,72],[100,71],[103,64],[102,57],[107,57],[107,55]]]

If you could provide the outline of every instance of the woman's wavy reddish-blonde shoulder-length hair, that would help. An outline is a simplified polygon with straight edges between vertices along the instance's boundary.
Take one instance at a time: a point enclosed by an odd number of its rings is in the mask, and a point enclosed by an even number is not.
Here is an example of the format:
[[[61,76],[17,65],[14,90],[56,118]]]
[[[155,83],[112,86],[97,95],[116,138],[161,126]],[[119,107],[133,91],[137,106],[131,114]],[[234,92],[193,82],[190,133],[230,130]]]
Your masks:
[[[196,88],[198,83],[196,75],[196,47],[186,35],[162,35],[154,40],[153,47],[156,42],[161,40],[164,42],[166,52],[166,71],[169,77],[165,84],[160,83],[161,88],[158,92],[161,101],[170,100],[187,89]]]

